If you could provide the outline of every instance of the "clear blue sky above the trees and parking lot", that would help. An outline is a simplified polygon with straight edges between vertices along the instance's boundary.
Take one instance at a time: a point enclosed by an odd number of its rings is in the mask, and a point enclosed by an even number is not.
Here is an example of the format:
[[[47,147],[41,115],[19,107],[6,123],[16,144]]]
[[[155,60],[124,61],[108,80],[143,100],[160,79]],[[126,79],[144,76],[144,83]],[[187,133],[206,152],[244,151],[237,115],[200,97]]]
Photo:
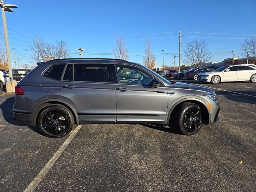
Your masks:
[[[30,46],[36,35],[46,42],[64,39],[70,57],[79,57],[77,48],[85,48],[83,57],[112,58],[116,35],[123,36],[130,61],[142,62],[145,38],[151,39],[156,66],[161,66],[165,50],[165,65],[172,65],[178,56],[178,32],[182,35],[182,50],[186,42],[196,38],[209,41],[213,62],[241,57],[244,38],[256,36],[256,0],[130,0],[85,1],[6,0],[18,9],[6,12],[12,66],[13,51],[20,65],[29,64]],[[2,19],[0,28],[3,31]],[[198,32],[198,33],[195,33]],[[216,34],[215,34],[216,33]],[[3,35],[0,45],[4,46]],[[109,55],[103,55],[103,53]],[[178,64],[178,57],[175,58]]]

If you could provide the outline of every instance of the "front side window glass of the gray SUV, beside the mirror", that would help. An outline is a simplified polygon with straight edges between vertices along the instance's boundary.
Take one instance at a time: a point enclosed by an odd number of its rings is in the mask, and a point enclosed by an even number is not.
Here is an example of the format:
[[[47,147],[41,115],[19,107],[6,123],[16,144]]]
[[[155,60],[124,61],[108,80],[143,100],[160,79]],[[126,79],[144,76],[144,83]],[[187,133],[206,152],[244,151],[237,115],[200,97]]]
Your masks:
[[[118,83],[147,85],[152,82],[152,75],[134,66],[115,65]],[[136,76],[132,75],[136,72]]]

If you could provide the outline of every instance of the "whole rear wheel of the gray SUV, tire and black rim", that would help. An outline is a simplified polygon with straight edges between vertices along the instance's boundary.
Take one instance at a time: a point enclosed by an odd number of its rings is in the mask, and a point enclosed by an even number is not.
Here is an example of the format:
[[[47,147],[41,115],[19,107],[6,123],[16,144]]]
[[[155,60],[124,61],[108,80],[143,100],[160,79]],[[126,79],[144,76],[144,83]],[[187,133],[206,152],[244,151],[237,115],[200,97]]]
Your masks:
[[[38,126],[45,136],[60,138],[74,128],[74,116],[65,106],[52,104],[38,114]]]

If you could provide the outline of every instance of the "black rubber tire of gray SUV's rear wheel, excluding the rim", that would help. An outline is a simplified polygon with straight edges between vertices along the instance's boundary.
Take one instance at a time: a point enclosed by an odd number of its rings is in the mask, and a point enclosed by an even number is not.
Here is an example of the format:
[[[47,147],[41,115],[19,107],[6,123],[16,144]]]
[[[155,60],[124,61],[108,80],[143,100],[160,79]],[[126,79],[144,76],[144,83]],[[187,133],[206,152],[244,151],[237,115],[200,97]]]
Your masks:
[[[43,126],[42,126],[42,118],[44,117],[44,115],[47,112],[53,111],[53,110],[59,110],[61,112],[63,112],[67,117],[68,117],[68,121],[70,123],[70,126],[66,129],[65,132],[63,132],[62,134],[59,135],[52,135],[48,132],[46,132],[46,130],[44,130]],[[74,117],[72,115],[72,113],[70,112],[70,110],[68,110],[67,108],[61,107],[61,106],[48,106],[46,108],[44,108],[38,115],[38,127],[40,129],[40,131],[47,137],[50,138],[60,138],[63,137],[64,135],[68,134],[74,127]]]

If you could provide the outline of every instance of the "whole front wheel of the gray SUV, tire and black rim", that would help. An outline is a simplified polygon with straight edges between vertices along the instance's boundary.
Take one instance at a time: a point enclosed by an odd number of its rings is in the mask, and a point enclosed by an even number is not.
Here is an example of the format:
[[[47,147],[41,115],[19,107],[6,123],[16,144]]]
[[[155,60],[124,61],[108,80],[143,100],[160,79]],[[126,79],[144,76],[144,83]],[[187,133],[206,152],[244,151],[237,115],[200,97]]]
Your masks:
[[[181,134],[194,135],[202,127],[202,111],[197,104],[182,103],[174,112],[173,123]]]

